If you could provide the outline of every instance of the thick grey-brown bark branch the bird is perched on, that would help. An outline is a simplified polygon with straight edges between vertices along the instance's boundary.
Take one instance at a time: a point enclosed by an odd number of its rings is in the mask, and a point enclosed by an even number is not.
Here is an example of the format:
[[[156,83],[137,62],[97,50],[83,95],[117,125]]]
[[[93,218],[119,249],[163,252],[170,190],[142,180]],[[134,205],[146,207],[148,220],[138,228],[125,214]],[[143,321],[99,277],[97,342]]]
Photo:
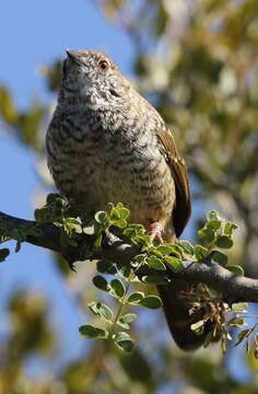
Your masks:
[[[0,227],[9,229],[19,229],[20,227],[35,227],[36,222],[11,217],[0,212]],[[37,246],[61,253],[71,264],[75,260],[85,259],[82,256],[83,245],[89,242],[85,236],[79,247],[63,247],[60,243],[60,230],[51,223],[38,224],[42,230],[39,236],[27,236],[26,242]],[[128,245],[114,234],[108,234],[104,241],[101,251],[95,252],[91,259],[104,258],[117,263],[119,265],[129,264],[132,258],[139,254],[139,248]],[[168,273],[172,278],[180,278],[190,282],[203,282],[210,288],[221,292],[224,299],[232,301],[246,301],[258,303],[258,279],[250,279],[244,276],[235,276],[227,269],[223,268],[214,262],[191,263],[185,262],[185,268],[177,273]],[[144,274],[146,274],[145,271]],[[156,274],[157,271],[155,271]],[[161,274],[162,275],[162,274]],[[167,275],[167,273],[166,273]]]

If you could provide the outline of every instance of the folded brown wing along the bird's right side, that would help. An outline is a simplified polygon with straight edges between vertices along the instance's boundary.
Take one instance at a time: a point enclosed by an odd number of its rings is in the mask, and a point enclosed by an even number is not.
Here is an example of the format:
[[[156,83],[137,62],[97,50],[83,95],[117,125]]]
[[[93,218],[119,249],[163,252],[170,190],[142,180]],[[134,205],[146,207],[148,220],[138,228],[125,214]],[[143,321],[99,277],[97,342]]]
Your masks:
[[[191,215],[191,196],[188,172],[184,159],[179,154],[175,140],[168,130],[157,131],[172,169],[176,185],[176,204],[173,210],[173,223],[176,236],[180,236]]]

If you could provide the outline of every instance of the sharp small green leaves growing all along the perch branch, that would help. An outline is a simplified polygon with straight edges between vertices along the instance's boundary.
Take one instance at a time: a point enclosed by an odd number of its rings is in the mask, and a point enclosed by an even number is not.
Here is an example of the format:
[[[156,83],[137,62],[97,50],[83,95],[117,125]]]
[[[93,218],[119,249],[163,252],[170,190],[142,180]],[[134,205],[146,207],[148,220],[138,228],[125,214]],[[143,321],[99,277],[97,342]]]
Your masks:
[[[105,327],[93,324],[84,324],[79,331],[83,337],[107,339],[113,341],[118,348],[125,351],[132,351],[134,343],[131,336],[121,329],[130,329],[131,323],[137,318],[137,314],[125,314],[130,305],[144,306],[151,310],[159,309],[162,305],[160,297],[155,294],[145,293],[143,291],[133,291],[129,293],[132,282],[144,282],[145,285],[163,285],[172,282],[167,275],[167,270],[177,273],[183,269],[184,259],[191,262],[203,262],[206,259],[214,259],[223,266],[227,263],[227,255],[222,252],[233,246],[233,233],[237,225],[233,222],[223,220],[214,210],[209,211],[207,221],[198,234],[202,245],[192,245],[189,241],[179,241],[176,244],[156,244],[145,233],[145,229],[141,224],[128,223],[130,216],[129,209],[124,207],[121,202],[116,206],[109,204],[107,211],[98,211],[90,223],[84,223],[75,216],[74,210],[67,204],[67,201],[58,194],[50,194],[47,196],[46,204],[43,208],[35,210],[36,224],[31,229],[23,227],[22,230],[15,229],[22,236],[19,237],[19,245],[21,241],[25,241],[27,235],[37,235],[40,230],[37,223],[52,222],[60,228],[61,243],[63,245],[78,246],[81,244],[80,240],[85,235],[91,236],[90,247],[84,248],[86,252],[85,258],[91,258],[92,252],[102,247],[103,239],[109,231],[118,234],[125,242],[130,245],[141,247],[142,253],[137,255],[128,266],[115,265],[107,260],[99,260],[96,265],[97,275],[93,278],[93,285],[98,289],[115,298],[117,301],[114,311],[106,303],[101,301],[91,301],[87,303],[90,311],[105,323]],[[9,232],[8,232],[9,230]],[[12,239],[13,230],[2,229],[0,236],[2,241]],[[17,240],[14,233],[14,240]],[[87,240],[89,243],[89,240]],[[19,246],[20,250],[21,246]],[[2,260],[9,255],[9,250],[2,248]],[[15,248],[17,252],[17,247]],[[83,257],[83,256],[82,256]],[[153,274],[142,275],[141,268],[148,266],[153,270]],[[241,266],[228,265],[227,269],[235,275],[244,275]],[[107,280],[105,276],[113,276],[112,280]],[[204,347],[220,338],[222,349],[225,351],[225,343],[232,339],[228,333],[228,327],[246,326],[245,316],[236,314],[236,304],[228,306],[220,299],[219,296],[211,294],[207,286],[200,283],[192,288],[192,291],[186,294],[187,302],[191,310],[204,309],[207,312],[203,317],[192,324],[192,331],[201,334],[204,328],[204,323],[209,320],[213,322],[213,331],[207,337]],[[246,308],[246,306],[244,306]],[[230,315],[226,320],[227,312],[233,312],[234,316]],[[241,311],[243,311],[243,306]],[[241,318],[239,318],[241,317]],[[244,339],[246,341],[246,349],[249,348],[250,334],[256,334],[257,324],[254,327],[245,328],[238,333],[238,343]]]

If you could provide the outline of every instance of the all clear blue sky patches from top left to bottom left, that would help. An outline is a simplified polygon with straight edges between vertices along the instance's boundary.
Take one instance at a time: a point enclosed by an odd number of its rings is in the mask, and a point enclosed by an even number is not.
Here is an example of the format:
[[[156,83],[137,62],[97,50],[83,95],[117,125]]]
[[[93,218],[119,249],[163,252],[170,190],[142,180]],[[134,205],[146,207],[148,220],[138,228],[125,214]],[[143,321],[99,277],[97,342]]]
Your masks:
[[[38,70],[42,63],[62,57],[66,48],[107,51],[124,72],[131,72],[133,48],[129,37],[108,24],[91,1],[2,1],[0,37],[4,38],[0,46],[0,85],[5,84],[11,90],[20,108],[25,108],[35,96],[40,101],[55,100],[48,94]],[[2,211],[33,218],[33,196],[40,187],[35,172],[36,159],[0,124],[0,165],[5,169],[1,177]],[[83,316],[47,251],[24,244],[19,254],[11,254],[8,262],[1,265],[0,287],[1,317],[4,316],[4,304],[13,289],[22,287],[42,291],[47,294],[51,305],[54,325],[64,338],[62,361],[85,350],[85,341],[82,343],[78,334],[79,325],[84,322]],[[8,321],[1,321],[0,334],[4,335],[9,331]],[[28,364],[28,371],[36,373],[38,362],[31,360]]]

